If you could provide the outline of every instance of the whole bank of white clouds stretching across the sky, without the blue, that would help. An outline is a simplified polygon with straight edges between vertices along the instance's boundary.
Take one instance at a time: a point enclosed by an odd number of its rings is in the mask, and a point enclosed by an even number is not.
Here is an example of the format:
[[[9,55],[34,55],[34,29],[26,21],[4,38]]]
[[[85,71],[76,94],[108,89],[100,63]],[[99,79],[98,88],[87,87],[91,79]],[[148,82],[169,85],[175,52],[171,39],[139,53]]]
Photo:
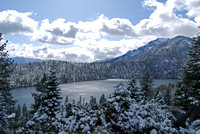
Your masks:
[[[167,0],[166,3],[145,0],[143,5],[150,8],[152,13],[136,25],[125,18],[110,19],[104,15],[95,20],[78,23],[66,22],[65,19],[50,23],[45,19],[38,25],[38,22],[29,17],[32,13],[8,10],[0,12],[0,29],[5,33],[29,33],[32,40],[48,44],[36,47],[32,44],[11,43],[11,56],[75,62],[114,58],[158,37],[192,37],[198,33],[199,0]],[[10,27],[5,24],[10,24]],[[62,44],[62,47],[56,44]]]

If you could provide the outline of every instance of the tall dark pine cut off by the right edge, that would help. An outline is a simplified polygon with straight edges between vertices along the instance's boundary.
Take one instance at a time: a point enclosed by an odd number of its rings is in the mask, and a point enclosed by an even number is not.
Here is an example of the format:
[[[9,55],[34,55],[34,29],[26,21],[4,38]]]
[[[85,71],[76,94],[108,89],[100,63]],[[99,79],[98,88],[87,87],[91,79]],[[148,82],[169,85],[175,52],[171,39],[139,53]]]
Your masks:
[[[190,58],[183,68],[184,73],[178,82],[176,105],[183,108],[191,120],[200,118],[200,36],[194,38]]]

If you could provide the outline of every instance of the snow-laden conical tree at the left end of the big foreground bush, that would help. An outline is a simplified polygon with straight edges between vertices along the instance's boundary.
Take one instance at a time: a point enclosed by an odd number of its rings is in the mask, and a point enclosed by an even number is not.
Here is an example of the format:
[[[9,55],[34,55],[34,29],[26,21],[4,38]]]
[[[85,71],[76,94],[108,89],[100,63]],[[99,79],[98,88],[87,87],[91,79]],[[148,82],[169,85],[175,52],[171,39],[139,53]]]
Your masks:
[[[125,112],[129,110],[132,103],[131,92],[127,90],[123,83],[119,83],[115,87],[114,93],[112,93],[107,100],[106,110],[104,112],[105,119],[111,131],[123,133],[124,126],[128,118],[125,116]]]

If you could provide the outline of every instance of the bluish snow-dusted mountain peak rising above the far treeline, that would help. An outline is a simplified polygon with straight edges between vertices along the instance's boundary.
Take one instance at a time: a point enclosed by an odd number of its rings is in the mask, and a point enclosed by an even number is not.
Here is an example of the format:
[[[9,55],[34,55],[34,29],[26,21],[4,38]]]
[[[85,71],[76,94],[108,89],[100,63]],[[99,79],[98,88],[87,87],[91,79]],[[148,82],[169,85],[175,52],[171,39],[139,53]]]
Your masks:
[[[110,60],[111,62],[184,62],[192,39],[184,36],[158,38],[147,45]]]

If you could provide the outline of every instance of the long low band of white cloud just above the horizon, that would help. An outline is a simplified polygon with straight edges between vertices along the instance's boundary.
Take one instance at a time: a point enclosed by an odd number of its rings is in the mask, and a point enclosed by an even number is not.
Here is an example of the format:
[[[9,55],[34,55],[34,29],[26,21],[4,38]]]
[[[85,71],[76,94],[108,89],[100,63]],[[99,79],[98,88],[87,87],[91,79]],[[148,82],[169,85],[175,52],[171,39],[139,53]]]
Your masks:
[[[151,38],[152,39],[152,38]],[[122,39],[120,41],[79,41],[79,45],[62,46],[54,48],[53,45],[44,44],[34,46],[32,44],[9,43],[7,48],[11,57],[30,57],[40,59],[59,59],[72,62],[93,62],[120,56],[125,52],[146,44],[151,39]],[[77,42],[78,43],[78,42]]]

